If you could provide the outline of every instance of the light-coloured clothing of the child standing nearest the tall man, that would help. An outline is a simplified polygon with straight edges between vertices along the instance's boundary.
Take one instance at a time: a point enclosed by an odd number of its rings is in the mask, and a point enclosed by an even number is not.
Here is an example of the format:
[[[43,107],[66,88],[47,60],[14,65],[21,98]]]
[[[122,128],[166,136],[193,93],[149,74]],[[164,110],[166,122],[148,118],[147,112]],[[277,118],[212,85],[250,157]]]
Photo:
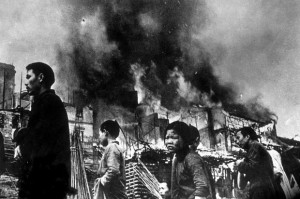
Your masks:
[[[118,142],[113,141],[105,148],[100,161],[98,175],[103,183],[107,199],[126,199],[125,159]]]

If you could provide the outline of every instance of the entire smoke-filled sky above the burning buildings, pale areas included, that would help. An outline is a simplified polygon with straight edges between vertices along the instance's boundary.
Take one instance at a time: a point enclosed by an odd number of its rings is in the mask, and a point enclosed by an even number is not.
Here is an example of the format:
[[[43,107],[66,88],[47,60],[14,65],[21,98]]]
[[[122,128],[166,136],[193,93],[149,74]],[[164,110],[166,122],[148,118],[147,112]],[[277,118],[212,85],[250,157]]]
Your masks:
[[[82,89],[114,101],[133,90],[137,64],[145,87],[170,109],[222,104],[261,119],[275,112],[279,135],[300,129],[296,0],[0,4],[0,61],[13,63],[17,78],[44,61],[62,96]]]

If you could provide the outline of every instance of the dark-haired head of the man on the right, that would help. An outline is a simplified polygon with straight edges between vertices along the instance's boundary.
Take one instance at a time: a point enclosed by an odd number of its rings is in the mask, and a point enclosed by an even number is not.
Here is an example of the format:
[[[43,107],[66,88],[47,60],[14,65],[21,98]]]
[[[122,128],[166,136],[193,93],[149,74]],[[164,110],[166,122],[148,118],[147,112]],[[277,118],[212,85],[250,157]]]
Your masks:
[[[257,140],[258,135],[251,127],[243,127],[238,130],[236,134],[237,143],[240,147],[245,148],[245,146],[249,143],[249,140]]]

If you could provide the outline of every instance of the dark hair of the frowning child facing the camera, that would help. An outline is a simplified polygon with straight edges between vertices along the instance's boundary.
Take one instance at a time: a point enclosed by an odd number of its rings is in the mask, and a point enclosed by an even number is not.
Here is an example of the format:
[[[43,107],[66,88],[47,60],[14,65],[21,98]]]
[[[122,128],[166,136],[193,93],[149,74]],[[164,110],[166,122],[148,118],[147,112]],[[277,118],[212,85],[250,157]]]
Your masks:
[[[182,140],[184,141],[185,145],[190,145],[193,143],[193,140],[191,139],[191,131],[189,126],[180,121],[172,122],[169,124],[165,130],[165,136],[164,140],[166,139],[167,131],[168,130],[174,130],[178,135],[182,137]]]

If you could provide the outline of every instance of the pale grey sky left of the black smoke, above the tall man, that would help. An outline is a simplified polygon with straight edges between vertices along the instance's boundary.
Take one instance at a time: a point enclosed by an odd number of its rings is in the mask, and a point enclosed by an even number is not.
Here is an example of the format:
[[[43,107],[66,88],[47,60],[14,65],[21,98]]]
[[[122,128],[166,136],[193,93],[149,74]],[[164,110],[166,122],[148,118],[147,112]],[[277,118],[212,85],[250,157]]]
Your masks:
[[[67,36],[63,12],[65,7],[57,0],[0,2],[0,62],[15,66],[17,91],[29,63],[42,61],[57,69],[55,46]]]

